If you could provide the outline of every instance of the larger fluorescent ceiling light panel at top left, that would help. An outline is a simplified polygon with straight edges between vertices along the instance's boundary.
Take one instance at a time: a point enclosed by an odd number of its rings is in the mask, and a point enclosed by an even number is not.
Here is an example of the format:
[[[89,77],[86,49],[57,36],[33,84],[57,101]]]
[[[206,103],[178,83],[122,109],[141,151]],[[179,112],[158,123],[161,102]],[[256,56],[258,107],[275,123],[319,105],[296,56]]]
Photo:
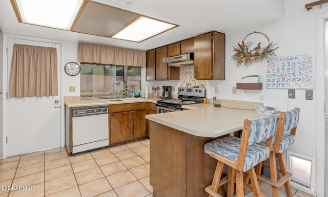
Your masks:
[[[83,0],[16,0],[23,23],[69,30]]]

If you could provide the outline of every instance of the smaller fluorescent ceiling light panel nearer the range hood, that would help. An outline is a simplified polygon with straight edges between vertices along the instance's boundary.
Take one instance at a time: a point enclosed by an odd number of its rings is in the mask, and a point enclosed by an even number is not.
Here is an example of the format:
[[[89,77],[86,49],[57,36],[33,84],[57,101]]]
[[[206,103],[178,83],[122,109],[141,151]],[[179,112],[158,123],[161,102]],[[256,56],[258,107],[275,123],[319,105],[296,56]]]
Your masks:
[[[128,27],[112,36],[112,38],[140,42],[174,27],[176,25],[140,16]]]

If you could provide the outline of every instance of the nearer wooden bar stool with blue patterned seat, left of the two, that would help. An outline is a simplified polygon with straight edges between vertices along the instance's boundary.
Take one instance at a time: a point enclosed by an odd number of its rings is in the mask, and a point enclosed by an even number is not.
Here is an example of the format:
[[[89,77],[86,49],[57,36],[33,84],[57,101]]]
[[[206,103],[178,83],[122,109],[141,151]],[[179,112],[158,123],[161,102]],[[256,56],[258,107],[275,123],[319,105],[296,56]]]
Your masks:
[[[211,196],[219,197],[218,187],[228,183],[228,196],[234,195],[236,183],[237,197],[244,196],[244,186],[253,191],[254,196],[263,196],[259,190],[255,168],[258,163],[269,158],[272,137],[277,117],[271,115],[263,119],[244,120],[241,138],[226,136],[204,145],[204,151],[218,160],[212,185],[206,188]],[[265,145],[258,142],[266,140]],[[221,179],[224,164],[228,165],[228,178]],[[243,172],[248,171],[252,187],[243,184]]]

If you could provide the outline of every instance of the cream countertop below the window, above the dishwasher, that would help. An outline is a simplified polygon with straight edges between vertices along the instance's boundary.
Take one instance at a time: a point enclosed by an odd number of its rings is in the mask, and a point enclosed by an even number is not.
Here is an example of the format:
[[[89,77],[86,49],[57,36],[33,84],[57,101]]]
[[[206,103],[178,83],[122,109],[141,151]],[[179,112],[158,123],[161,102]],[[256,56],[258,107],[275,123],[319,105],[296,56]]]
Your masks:
[[[66,97],[65,105],[68,107],[85,107],[85,106],[97,106],[97,105],[112,105],[112,104],[124,104],[124,103],[138,103],[138,102],[152,102],[156,103],[158,99],[151,98],[127,98],[122,101],[104,101],[104,99],[90,99],[80,100],[79,97]]]

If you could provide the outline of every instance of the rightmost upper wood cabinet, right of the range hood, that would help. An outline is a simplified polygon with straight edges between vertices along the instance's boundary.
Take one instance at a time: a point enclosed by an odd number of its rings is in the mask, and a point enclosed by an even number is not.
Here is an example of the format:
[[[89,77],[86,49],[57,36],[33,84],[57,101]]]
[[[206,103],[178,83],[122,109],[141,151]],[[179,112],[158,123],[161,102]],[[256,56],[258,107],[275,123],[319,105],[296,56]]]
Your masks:
[[[195,79],[226,79],[226,36],[212,31],[195,36]]]

